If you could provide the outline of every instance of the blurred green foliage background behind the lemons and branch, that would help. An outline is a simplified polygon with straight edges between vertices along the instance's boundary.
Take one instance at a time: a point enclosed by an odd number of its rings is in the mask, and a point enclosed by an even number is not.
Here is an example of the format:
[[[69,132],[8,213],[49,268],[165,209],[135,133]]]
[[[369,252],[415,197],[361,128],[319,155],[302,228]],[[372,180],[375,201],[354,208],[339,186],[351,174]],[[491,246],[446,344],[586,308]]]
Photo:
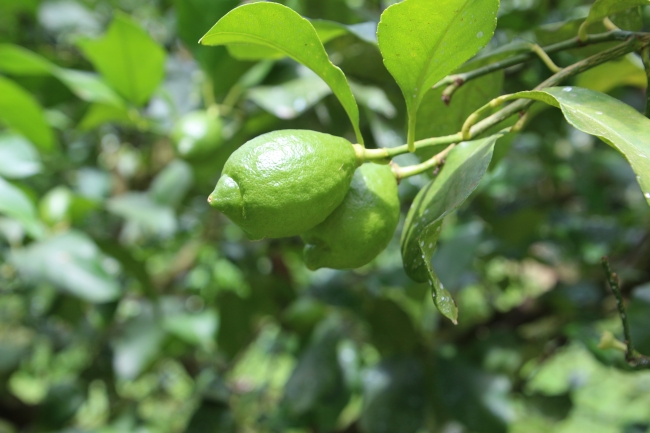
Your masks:
[[[609,255],[650,354],[650,209],[624,158],[542,107],[498,143],[434,257],[458,326],[406,277],[399,230],[368,266],[310,272],[298,238],[250,242],[206,203],[252,137],[354,137],[294,61],[197,44],[239,3],[0,0],[0,432],[650,431],[650,371],[596,347],[605,330],[621,338]],[[346,25],[326,49],[367,143],[402,144],[404,103],[373,37],[391,2],[283,3]],[[574,37],[589,6],[502,0],[487,50]],[[650,7],[614,21],[649,30]],[[549,75],[539,61],[499,71],[449,107],[430,92],[418,138]],[[644,106],[634,55],[574,84]],[[223,142],[176,156],[174,125],[208,106]],[[427,180],[400,185],[402,219]]]

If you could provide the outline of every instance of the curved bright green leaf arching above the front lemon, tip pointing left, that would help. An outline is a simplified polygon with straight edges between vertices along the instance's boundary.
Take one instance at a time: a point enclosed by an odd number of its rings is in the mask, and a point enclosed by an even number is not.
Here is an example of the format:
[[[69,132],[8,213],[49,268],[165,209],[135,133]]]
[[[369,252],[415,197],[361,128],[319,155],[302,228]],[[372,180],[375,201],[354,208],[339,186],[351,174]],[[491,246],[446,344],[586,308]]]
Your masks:
[[[282,51],[325,81],[350,117],[359,143],[359,108],[343,72],[327,57],[312,24],[278,3],[259,2],[228,12],[201,38],[204,45],[255,44]]]

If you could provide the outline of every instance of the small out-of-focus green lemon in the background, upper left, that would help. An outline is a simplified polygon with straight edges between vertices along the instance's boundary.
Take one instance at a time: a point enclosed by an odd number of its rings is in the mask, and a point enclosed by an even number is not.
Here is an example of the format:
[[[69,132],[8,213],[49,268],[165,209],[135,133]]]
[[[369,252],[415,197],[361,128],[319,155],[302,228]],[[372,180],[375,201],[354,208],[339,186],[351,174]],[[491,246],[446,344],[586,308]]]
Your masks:
[[[181,117],[171,137],[178,154],[187,159],[205,156],[221,146],[221,119],[216,113],[199,110]]]

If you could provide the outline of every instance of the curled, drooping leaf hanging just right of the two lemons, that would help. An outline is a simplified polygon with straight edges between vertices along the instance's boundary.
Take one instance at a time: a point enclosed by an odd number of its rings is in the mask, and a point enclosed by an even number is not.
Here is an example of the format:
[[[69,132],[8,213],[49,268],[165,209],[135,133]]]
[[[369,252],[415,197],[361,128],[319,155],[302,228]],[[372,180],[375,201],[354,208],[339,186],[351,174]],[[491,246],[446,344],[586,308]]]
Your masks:
[[[438,278],[431,258],[438,243],[442,220],[476,189],[485,174],[494,143],[500,135],[458,144],[438,176],[415,197],[402,232],[402,261],[409,277],[428,281],[438,310],[456,323],[458,309]]]

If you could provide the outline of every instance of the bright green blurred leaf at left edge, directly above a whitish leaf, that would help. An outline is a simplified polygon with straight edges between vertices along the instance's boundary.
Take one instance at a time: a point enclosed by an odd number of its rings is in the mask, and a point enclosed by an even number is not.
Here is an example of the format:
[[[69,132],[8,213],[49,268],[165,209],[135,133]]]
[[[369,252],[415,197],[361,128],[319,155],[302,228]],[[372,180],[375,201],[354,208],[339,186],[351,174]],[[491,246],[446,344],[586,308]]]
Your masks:
[[[36,99],[4,77],[0,77],[0,95],[0,121],[27,137],[41,150],[52,150],[54,135]]]

